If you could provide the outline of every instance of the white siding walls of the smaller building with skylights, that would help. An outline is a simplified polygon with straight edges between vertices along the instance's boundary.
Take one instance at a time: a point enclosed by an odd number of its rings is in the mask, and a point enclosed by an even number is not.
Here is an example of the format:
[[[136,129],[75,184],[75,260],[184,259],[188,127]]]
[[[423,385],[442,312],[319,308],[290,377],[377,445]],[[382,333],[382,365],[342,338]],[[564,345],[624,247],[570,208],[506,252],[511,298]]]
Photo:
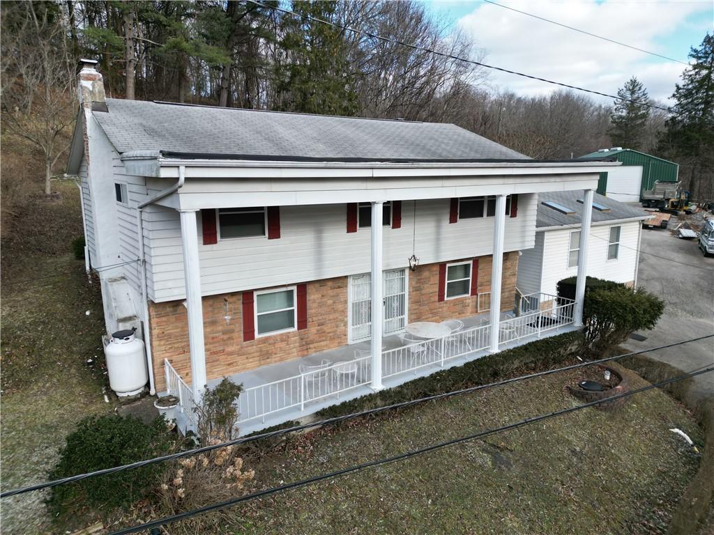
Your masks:
[[[596,225],[590,228],[588,248],[588,276],[614,282],[633,282],[638,255],[637,238],[640,222],[623,223],[620,226],[620,247],[618,258],[608,260],[610,246],[610,225]],[[578,267],[566,267],[570,245],[570,230],[546,230],[543,234],[543,270],[540,291],[555,294],[558,280],[573,277]],[[523,257],[518,265],[520,271]],[[520,278],[519,278],[520,280]],[[521,291],[523,288],[519,287]]]

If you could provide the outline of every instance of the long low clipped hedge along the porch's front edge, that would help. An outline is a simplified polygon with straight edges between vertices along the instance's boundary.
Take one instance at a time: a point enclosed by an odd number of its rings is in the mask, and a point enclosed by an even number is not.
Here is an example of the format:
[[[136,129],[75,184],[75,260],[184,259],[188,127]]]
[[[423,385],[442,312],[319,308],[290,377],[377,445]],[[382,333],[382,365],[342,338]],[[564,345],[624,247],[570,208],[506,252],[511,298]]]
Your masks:
[[[323,418],[333,418],[376,407],[383,407],[411,399],[451,392],[453,390],[487,384],[524,370],[547,369],[562,364],[580,347],[580,332],[567,332],[530,344],[514,347],[494,355],[455,366],[428,377],[419,377],[398,387],[351,399],[318,412]]]

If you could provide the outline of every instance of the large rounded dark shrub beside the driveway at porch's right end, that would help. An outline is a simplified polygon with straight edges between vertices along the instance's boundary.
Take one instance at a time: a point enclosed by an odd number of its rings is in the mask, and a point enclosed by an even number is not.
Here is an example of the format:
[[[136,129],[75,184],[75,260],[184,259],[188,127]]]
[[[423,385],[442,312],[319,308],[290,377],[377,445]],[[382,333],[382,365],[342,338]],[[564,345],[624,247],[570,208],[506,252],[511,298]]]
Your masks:
[[[608,350],[631,332],[654,327],[664,308],[663,300],[641,288],[620,286],[586,292],[585,343],[596,351]]]

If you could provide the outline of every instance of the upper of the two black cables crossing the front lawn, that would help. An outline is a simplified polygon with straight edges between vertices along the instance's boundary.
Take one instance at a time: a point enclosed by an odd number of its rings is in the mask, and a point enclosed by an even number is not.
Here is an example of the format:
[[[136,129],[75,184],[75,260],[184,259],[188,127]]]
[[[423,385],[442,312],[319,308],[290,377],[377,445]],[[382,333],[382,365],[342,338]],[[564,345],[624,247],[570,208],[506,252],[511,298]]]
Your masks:
[[[146,459],[144,461],[138,461],[138,462],[134,462],[131,464],[124,464],[119,467],[105,468],[105,469],[101,469],[101,470],[96,470],[95,472],[88,472],[86,474],[77,474],[75,476],[65,477],[62,479],[56,479],[54,481],[45,481],[43,483],[37,483],[37,484],[22,487],[19,489],[4,491],[4,492],[0,493],[0,498],[6,498],[9,496],[15,496],[16,494],[24,494],[26,492],[47,489],[47,488],[50,488],[53,486],[58,486],[61,484],[73,483],[73,482],[81,481],[82,479],[87,479],[90,477],[104,476],[107,474],[116,474],[116,472],[124,472],[124,470],[146,467],[149,464],[156,464],[159,462],[171,461],[174,459],[180,459],[182,457],[190,457],[192,455],[200,454],[203,452],[210,452],[213,449],[219,449],[219,448],[223,448],[223,447],[227,447],[227,446],[236,446],[238,444],[246,444],[247,442],[254,442],[256,440],[265,439],[265,438],[269,438],[269,437],[278,437],[283,434],[303,431],[306,429],[312,429],[314,427],[321,427],[323,425],[336,424],[339,422],[344,422],[349,419],[355,419],[355,418],[364,417],[364,416],[371,416],[373,414],[378,414],[380,412],[386,412],[388,410],[412,407],[413,405],[421,404],[423,402],[437,401],[439,399],[444,399],[447,397],[455,397],[455,396],[458,396],[461,394],[470,394],[472,392],[478,392],[480,390],[491,389],[493,387],[501,387],[503,385],[511,384],[513,382],[519,382],[519,381],[523,381],[526,379],[534,379],[535,377],[545,377],[546,375],[550,375],[550,374],[565,372],[568,370],[576,370],[578,368],[583,368],[583,367],[588,367],[588,366],[593,366],[593,365],[599,365],[599,364],[603,364],[604,362],[611,362],[613,360],[618,360],[618,359],[621,359],[624,357],[633,357],[635,355],[642,355],[643,353],[646,353],[646,352],[668,349],[669,347],[675,347],[675,346],[687,344],[690,342],[698,342],[700,340],[705,340],[707,338],[712,338],[712,337],[714,337],[714,335],[703,335],[700,337],[690,338],[689,340],[682,340],[680,342],[672,342],[670,344],[660,345],[658,347],[650,347],[645,350],[639,350],[639,351],[634,351],[634,352],[630,352],[630,353],[625,353],[623,355],[615,355],[614,357],[605,357],[603,359],[593,360],[590,362],[580,362],[578,364],[555,368],[553,370],[545,370],[543,372],[535,372],[535,373],[531,373],[531,374],[521,375],[519,377],[511,377],[511,379],[502,379],[501,381],[492,382],[489,384],[480,384],[475,387],[468,387],[468,388],[464,388],[461,390],[455,390],[452,392],[443,392],[441,394],[433,394],[433,395],[427,396],[427,397],[411,399],[406,402],[399,402],[399,403],[395,403],[395,404],[391,404],[391,405],[386,405],[383,407],[376,407],[374,409],[368,409],[368,410],[361,411],[361,412],[354,412],[352,414],[345,414],[343,416],[323,419],[318,422],[311,422],[308,424],[300,424],[300,425],[296,425],[293,427],[288,427],[286,429],[278,429],[276,431],[271,431],[271,432],[262,433],[262,434],[256,434],[256,435],[252,435],[251,437],[241,437],[238,439],[221,442],[220,444],[212,444],[209,446],[203,446],[200,448],[186,450],[184,452],[176,452],[176,453],[164,455],[161,457],[154,457],[152,459]]]

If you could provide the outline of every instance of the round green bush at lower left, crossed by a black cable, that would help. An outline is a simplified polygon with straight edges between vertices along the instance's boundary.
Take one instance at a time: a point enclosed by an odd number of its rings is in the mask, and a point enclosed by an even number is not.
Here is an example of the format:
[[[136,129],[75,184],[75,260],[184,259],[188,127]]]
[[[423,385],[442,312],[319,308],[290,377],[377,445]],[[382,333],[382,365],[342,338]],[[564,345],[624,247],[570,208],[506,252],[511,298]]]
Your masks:
[[[135,417],[116,414],[88,417],[66,439],[50,479],[94,472],[141,461],[171,450],[172,441],[163,418],[146,425]],[[55,514],[79,506],[96,508],[127,506],[144,498],[156,485],[165,463],[91,477],[53,487],[48,504]]]

